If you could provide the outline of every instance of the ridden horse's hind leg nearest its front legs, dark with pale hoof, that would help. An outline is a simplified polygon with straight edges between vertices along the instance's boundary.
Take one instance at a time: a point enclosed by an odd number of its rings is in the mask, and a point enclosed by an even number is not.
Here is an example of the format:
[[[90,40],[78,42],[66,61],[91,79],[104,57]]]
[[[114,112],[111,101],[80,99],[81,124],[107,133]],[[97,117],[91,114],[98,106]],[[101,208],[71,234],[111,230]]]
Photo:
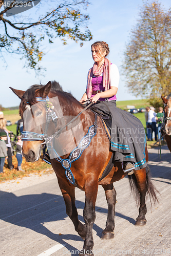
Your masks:
[[[114,238],[115,228],[115,205],[116,205],[116,190],[113,184],[102,185],[105,190],[106,201],[108,205],[106,228],[102,232],[101,239],[108,240]]]

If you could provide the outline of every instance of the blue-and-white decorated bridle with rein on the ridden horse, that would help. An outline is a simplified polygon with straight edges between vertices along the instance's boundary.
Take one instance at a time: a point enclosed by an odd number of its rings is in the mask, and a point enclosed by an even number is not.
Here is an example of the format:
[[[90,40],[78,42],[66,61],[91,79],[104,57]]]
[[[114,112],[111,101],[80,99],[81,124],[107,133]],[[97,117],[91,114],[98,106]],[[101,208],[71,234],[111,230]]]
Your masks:
[[[54,106],[49,101],[48,96],[46,96],[46,98],[36,97],[36,100],[38,102],[46,102],[45,131],[42,134],[24,131],[24,132],[21,133],[21,137],[22,137],[22,141],[43,141],[42,145],[50,142],[54,137],[59,135],[70,123],[72,123],[75,119],[77,119],[86,109],[88,109],[90,107],[91,104],[93,104],[93,102],[89,103],[86,106],[86,108],[84,108],[77,116],[72,118],[65,126],[63,126],[60,130],[58,130],[58,132],[55,132],[52,136],[48,137],[47,131],[48,131],[49,122],[52,119],[52,121],[53,121],[53,123],[55,124],[55,127],[56,127],[58,116],[56,116],[56,113],[53,111]]]

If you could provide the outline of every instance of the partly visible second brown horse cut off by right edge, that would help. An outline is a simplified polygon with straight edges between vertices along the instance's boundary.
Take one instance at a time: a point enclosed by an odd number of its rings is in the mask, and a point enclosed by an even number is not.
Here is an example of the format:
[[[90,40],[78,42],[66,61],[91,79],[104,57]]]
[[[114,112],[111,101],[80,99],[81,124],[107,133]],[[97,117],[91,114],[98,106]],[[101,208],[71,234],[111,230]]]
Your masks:
[[[171,153],[171,97],[164,98],[161,95],[164,106],[164,138]]]

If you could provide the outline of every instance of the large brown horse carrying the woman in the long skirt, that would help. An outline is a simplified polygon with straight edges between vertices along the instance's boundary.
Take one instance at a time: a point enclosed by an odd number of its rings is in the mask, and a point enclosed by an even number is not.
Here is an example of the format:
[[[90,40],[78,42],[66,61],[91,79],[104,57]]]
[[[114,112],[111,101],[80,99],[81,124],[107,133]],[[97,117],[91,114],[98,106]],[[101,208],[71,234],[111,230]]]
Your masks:
[[[54,169],[56,177],[58,178],[58,183],[60,189],[62,191],[62,195],[66,204],[66,213],[69,218],[72,220],[74,224],[75,230],[79,233],[79,235],[84,239],[84,246],[80,255],[93,255],[92,248],[93,248],[93,237],[92,237],[92,226],[94,220],[96,218],[95,213],[95,204],[98,194],[98,186],[102,185],[105,190],[106,200],[108,204],[108,214],[107,214],[107,221],[106,221],[106,228],[102,232],[102,239],[112,239],[114,237],[113,230],[115,228],[115,204],[116,204],[116,190],[113,187],[113,182],[123,179],[126,174],[123,172],[121,162],[115,162],[114,166],[112,167],[110,173],[101,181],[103,171],[107,166],[108,162],[110,161],[112,152],[109,151],[109,140],[104,130],[104,126],[102,123],[101,118],[97,117],[97,123],[94,127],[97,127],[96,135],[94,135],[89,143],[89,146],[85,148],[82,152],[81,156],[77,158],[77,160],[72,161],[71,166],[67,167],[69,164],[68,158],[71,157],[71,150],[72,150],[72,142],[70,135],[68,137],[63,136],[62,140],[60,140],[59,130],[61,129],[62,125],[66,126],[66,122],[63,122],[62,119],[67,116],[77,116],[81,111],[83,111],[83,106],[70,94],[63,92],[62,88],[59,84],[54,84],[51,86],[51,82],[48,82],[46,86],[34,85],[30,87],[26,92],[20,90],[11,90],[21,99],[20,103],[20,115],[24,118],[24,135],[26,136],[23,138],[23,155],[28,162],[37,161],[40,157],[40,152],[42,148],[42,141],[46,138],[43,135],[46,130],[46,124],[41,125],[41,135],[40,130],[38,129],[37,120],[45,120],[47,115],[47,109],[45,110],[45,106],[40,102],[40,106],[37,108],[32,108],[34,104],[37,103],[37,98],[45,100],[45,98],[51,99],[53,97],[58,97],[59,105],[61,106],[62,114],[60,116],[59,109],[55,109],[56,114],[56,124],[52,122],[50,125],[51,131],[53,131],[53,138],[52,140],[56,140],[59,142],[60,147],[63,148],[63,152],[65,155],[61,154],[60,156],[56,156],[55,158],[51,159],[51,165]],[[49,107],[49,105],[48,105]],[[27,114],[25,115],[25,111]],[[54,114],[54,113],[53,113]],[[34,125],[34,129],[32,130],[33,133],[28,133],[27,130],[31,130],[31,122],[25,121],[25,117],[30,115],[33,117],[33,122],[36,122]],[[63,115],[63,117],[62,117]],[[41,119],[42,118],[42,119]],[[94,123],[94,113],[87,109],[80,115],[82,128],[84,134],[89,133],[89,127],[92,127]],[[96,122],[96,121],[95,121]],[[30,128],[29,128],[30,127]],[[76,126],[75,126],[76,127]],[[78,134],[80,131],[81,126],[79,124],[76,128],[76,133]],[[65,131],[67,131],[68,127],[66,127]],[[61,129],[62,130],[62,129]],[[56,132],[57,131],[57,132]],[[63,130],[64,131],[64,130]],[[38,135],[37,135],[38,134]],[[64,134],[64,133],[61,133]],[[35,138],[33,138],[35,135]],[[30,136],[30,139],[29,139]],[[36,137],[37,136],[37,137]],[[38,137],[41,137],[38,138]],[[50,136],[50,135],[49,135]],[[59,136],[59,137],[58,137]],[[87,137],[86,137],[87,138]],[[79,138],[79,140],[81,137]],[[46,138],[48,140],[48,136]],[[75,140],[75,138],[74,138]],[[55,142],[56,143],[56,142]],[[80,144],[79,144],[80,145]],[[59,147],[59,150],[60,150]],[[79,150],[79,148],[78,148]],[[75,151],[74,151],[75,153]],[[76,152],[78,153],[78,152]],[[75,154],[76,154],[75,153]],[[57,154],[57,153],[56,153]],[[148,152],[147,148],[145,148],[146,154],[146,161],[148,161]],[[59,160],[60,159],[60,160]],[[61,162],[60,162],[61,161]],[[74,189],[75,186],[72,184],[68,178],[66,177],[66,169],[70,168],[70,176],[73,175],[74,182],[78,186],[78,188],[85,191],[85,207],[83,217],[85,220],[85,224],[83,225],[78,219],[78,212],[77,208],[75,207],[75,194]],[[73,178],[71,177],[71,178]],[[149,178],[149,168],[143,168],[140,170],[135,170],[134,174],[129,177],[130,185],[133,191],[135,191],[138,203],[139,203],[139,215],[135,225],[143,226],[146,224],[145,215],[147,212],[146,204],[145,204],[145,197],[146,193],[149,194],[150,198],[155,202],[157,200],[156,196],[156,189],[151,183]]]

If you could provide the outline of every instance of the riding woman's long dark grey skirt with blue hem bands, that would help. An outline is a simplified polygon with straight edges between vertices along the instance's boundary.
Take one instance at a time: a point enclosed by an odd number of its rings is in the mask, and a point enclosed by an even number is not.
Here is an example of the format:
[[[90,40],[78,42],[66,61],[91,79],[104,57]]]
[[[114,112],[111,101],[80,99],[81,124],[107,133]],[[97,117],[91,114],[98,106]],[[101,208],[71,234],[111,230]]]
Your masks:
[[[134,115],[117,108],[116,100],[101,101],[92,109],[111,115],[110,149],[114,161],[130,161],[139,170],[147,166],[145,160],[146,135],[141,121]]]

